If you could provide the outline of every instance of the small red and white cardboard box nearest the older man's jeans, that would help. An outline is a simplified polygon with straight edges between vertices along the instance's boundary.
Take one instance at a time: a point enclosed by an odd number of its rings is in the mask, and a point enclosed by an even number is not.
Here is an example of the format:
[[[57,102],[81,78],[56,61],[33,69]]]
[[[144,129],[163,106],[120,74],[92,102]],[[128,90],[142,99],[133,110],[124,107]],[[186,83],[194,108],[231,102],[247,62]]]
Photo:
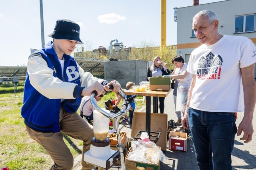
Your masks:
[[[180,136],[184,139],[179,139],[176,136]],[[187,133],[170,131],[170,134],[169,134],[169,149],[170,150],[180,150],[180,151],[187,152],[187,147],[188,147]]]

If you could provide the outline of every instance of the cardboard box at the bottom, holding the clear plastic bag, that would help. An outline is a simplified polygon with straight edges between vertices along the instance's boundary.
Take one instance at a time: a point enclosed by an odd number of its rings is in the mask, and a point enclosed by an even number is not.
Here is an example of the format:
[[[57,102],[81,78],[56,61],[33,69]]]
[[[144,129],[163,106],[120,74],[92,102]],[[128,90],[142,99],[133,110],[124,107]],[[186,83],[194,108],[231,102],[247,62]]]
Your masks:
[[[132,148],[130,148],[129,152],[132,152]],[[128,155],[126,155],[125,157],[125,167],[126,170],[136,170],[137,166],[143,167],[146,170],[160,170],[160,160],[158,162],[158,164],[147,164],[144,162],[137,162],[134,160],[128,160]]]

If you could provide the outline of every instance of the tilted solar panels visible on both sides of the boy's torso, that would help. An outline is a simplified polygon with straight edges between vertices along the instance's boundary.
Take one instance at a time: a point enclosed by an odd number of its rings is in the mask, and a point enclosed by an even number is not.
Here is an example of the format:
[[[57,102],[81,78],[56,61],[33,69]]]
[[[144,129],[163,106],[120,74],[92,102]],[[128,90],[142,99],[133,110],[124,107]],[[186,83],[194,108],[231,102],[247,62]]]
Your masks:
[[[109,61],[105,59],[86,59],[74,57],[76,62],[84,69],[85,72],[91,72],[94,76],[104,76],[104,62]],[[27,73],[26,66],[0,66],[0,78],[4,80],[11,80],[5,77],[19,77],[18,80],[25,80]]]

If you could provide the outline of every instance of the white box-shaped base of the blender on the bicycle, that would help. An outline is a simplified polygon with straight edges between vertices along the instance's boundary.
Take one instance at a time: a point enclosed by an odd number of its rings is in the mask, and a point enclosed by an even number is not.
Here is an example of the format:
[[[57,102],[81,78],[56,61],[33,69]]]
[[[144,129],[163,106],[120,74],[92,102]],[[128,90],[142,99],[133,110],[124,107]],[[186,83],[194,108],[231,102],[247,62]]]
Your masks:
[[[84,153],[84,161],[88,164],[96,165],[100,168],[109,169],[116,163],[117,158],[119,156],[119,152],[117,150],[110,150],[111,153],[108,156],[102,158],[96,158],[90,154],[90,150]]]

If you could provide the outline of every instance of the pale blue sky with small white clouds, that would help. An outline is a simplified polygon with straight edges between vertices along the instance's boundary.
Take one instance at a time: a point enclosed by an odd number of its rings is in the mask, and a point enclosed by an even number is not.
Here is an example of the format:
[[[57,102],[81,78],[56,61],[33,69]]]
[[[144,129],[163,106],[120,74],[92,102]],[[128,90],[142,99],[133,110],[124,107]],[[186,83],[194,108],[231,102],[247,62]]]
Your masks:
[[[200,0],[200,4],[221,0]],[[0,66],[26,65],[30,49],[41,48],[39,0],[1,0]],[[126,47],[142,41],[160,45],[161,0],[43,0],[45,43],[51,41],[56,20],[80,25],[85,49],[108,48],[112,39]],[[176,45],[174,7],[192,6],[193,0],[167,0],[166,45]],[[193,17],[193,16],[188,16]]]

